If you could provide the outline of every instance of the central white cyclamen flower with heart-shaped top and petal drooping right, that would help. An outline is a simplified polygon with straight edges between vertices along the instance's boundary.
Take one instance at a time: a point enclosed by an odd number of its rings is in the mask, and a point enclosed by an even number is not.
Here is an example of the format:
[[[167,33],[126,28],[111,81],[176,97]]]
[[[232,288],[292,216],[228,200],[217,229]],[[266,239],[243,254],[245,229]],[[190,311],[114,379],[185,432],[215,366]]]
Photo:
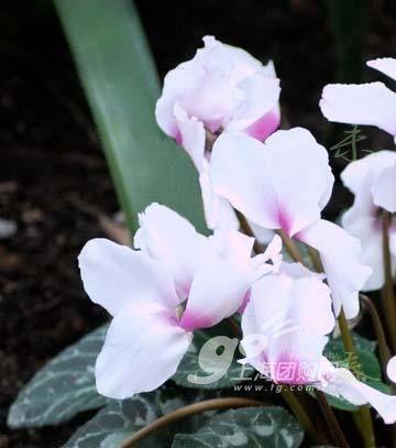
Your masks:
[[[339,226],[320,219],[333,175],[326,149],[305,129],[277,131],[265,144],[223,134],[213,145],[210,178],[216,193],[252,222],[282,229],[321,256],[334,313],[359,312],[359,291],[371,274],[362,265],[360,242]]]

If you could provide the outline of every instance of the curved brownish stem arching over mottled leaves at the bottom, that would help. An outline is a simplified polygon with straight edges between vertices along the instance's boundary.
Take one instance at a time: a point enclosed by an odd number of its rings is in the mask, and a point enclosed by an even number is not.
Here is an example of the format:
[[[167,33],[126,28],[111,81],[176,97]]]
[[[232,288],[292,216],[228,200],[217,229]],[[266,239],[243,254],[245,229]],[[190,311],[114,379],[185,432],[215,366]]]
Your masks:
[[[120,448],[133,447],[139,440],[150,436],[155,430],[170,425],[189,415],[199,414],[212,409],[227,409],[230,407],[248,407],[248,406],[264,406],[263,402],[251,398],[243,398],[238,396],[230,396],[223,398],[205,400],[199,403],[189,404],[188,406],[179,407],[178,409],[166,414],[156,420],[144,426],[142,429],[134,433],[131,437],[124,440]]]

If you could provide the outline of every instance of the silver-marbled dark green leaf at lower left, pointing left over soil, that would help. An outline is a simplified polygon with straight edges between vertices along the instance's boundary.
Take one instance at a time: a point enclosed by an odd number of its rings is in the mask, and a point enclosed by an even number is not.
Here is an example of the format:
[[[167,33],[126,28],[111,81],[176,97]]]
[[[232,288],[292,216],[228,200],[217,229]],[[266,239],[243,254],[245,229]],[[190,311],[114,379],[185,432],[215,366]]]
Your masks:
[[[94,365],[108,325],[57,354],[25,385],[10,408],[14,428],[55,425],[108,401],[95,386]]]

